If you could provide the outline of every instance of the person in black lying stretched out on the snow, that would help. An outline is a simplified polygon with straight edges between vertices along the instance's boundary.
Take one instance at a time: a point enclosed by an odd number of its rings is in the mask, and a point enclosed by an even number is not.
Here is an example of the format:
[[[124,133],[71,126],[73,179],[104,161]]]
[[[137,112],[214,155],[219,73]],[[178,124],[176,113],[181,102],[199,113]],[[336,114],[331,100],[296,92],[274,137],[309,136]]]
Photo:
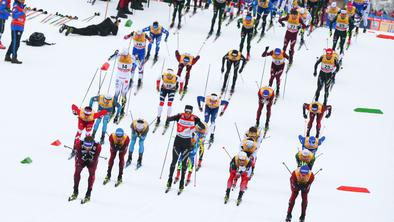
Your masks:
[[[99,35],[99,36],[108,36],[110,34],[117,35],[118,27],[120,20],[115,19],[115,23],[112,22],[110,18],[106,18],[98,25],[89,25],[85,28],[75,28],[72,26],[62,25],[60,27],[59,32],[63,33],[64,30],[67,30],[65,35],[68,36],[70,33],[77,35]]]

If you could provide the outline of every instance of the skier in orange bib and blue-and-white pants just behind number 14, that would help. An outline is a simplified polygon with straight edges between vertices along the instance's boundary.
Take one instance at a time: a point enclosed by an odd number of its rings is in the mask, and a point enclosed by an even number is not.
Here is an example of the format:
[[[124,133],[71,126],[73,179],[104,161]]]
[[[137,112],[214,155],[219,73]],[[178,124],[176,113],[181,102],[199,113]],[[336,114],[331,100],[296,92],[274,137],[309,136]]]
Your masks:
[[[125,40],[129,38],[133,38],[134,47],[133,47],[133,55],[138,59],[138,84],[137,88],[140,89],[142,87],[142,78],[144,75],[144,65],[145,65],[145,46],[146,42],[152,42],[152,38],[148,36],[145,32],[137,31],[131,32],[130,34],[124,37]]]

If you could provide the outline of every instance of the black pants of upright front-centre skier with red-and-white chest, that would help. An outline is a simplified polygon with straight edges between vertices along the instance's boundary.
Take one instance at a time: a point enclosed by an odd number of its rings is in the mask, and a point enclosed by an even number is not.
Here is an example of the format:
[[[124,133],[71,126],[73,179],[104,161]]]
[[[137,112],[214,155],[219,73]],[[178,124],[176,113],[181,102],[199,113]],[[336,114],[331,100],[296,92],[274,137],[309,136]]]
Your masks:
[[[185,182],[185,173],[187,168],[187,159],[189,158],[189,154],[191,151],[191,138],[182,138],[179,136],[175,137],[174,147],[172,149],[172,161],[170,165],[170,174],[168,176],[168,182],[172,183],[172,177],[174,175],[176,163],[178,162],[179,156],[182,155],[183,159],[180,160],[182,162],[182,173],[181,180],[179,181],[179,187],[183,187]]]

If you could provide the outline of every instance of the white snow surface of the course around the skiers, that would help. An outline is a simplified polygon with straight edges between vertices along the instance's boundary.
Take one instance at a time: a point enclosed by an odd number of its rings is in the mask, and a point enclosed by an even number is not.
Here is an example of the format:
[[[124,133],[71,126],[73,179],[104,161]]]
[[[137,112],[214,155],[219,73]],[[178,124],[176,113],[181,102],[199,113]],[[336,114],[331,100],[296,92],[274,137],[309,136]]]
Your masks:
[[[95,11],[102,14],[105,11],[105,3],[101,1],[93,7],[86,1],[77,0],[58,0],[56,3],[50,0],[27,1],[30,3],[49,13],[75,14],[80,20]],[[115,7],[116,3],[112,2],[109,12],[114,12]],[[159,180],[159,174],[170,132],[165,136],[150,133],[145,143],[143,167],[139,171],[134,167],[128,168],[124,184],[118,188],[114,188],[113,182],[103,186],[107,162],[100,160],[91,203],[81,206],[79,201],[67,201],[72,193],[74,161],[67,160],[69,150],[49,144],[55,139],[72,144],[77,120],[71,114],[71,104],[80,104],[94,71],[107,57],[115,49],[128,46],[123,35],[150,25],[153,20],[168,27],[168,14],[167,4],[151,2],[149,9],[137,11],[131,17],[134,22],[131,29],[125,28],[125,21],[122,21],[118,36],[104,38],[65,37],[58,33],[58,28],[41,24],[39,21],[43,16],[27,22],[22,39],[28,38],[33,31],[41,31],[46,34],[47,42],[56,42],[56,45],[32,48],[22,44],[19,50],[22,65],[0,63],[3,102],[0,221],[284,221],[290,187],[289,174],[282,162],[291,169],[296,166],[294,154],[300,147],[297,137],[304,134],[305,129],[301,106],[312,100],[316,89],[313,65],[326,47],[326,29],[317,29],[306,38],[308,51],[302,48],[295,53],[293,67],[288,73],[285,99],[279,100],[272,108],[269,138],[263,141],[255,177],[249,183],[241,206],[237,207],[234,201],[238,191],[232,192],[227,205],[223,204],[229,158],[221,147],[225,146],[232,155],[236,154],[239,141],[234,122],[241,132],[255,123],[255,81],[260,80],[264,64],[260,55],[266,45],[282,47],[285,29],[278,26],[271,29],[259,44],[256,44],[256,39],[252,42],[251,61],[238,79],[236,93],[227,112],[217,119],[216,142],[205,154],[196,187],[188,186],[181,196],[174,191],[164,193],[170,155],[162,180]],[[181,52],[197,53],[209,31],[211,16],[212,9],[209,9],[199,11],[192,18],[185,17],[186,23],[179,35]],[[101,19],[103,16],[90,23],[98,23]],[[7,46],[10,42],[9,24],[7,21],[3,37]],[[87,23],[75,21],[70,25],[85,26]],[[207,41],[201,60],[193,67],[189,94],[182,102],[177,95],[173,113],[181,112],[185,104],[192,104],[196,113],[203,117],[197,111],[196,97],[204,93],[208,65],[211,64],[211,72],[207,93],[219,92],[222,84],[221,58],[228,50],[238,48],[239,32],[234,22],[231,26],[223,26],[223,36],[218,41],[213,43],[213,38]],[[330,94],[329,104],[333,105],[333,112],[330,119],[323,120],[322,133],[327,139],[319,149],[324,155],[318,158],[314,167],[315,171],[319,168],[323,171],[317,175],[309,194],[307,221],[394,221],[390,214],[394,209],[394,147],[390,143],[394,136],[394,41],[378,39],[375,35],[360,34],[358,39],[354,39]],[[177,67],[174,56],[176,40],[176,35],[171,33],[168,41],[170,55],[162,42],[159,62],[153,68],[151,61],[146,64],[144,88],[131,99],[134,118],[152,121],[156,116],[159,95],[154,89],[155,80],[164,59],[165,67]],[[4,54],[5,51],[1,52],[1,56]],[[268,82],[270,62],[267,59],[264,83]],[[108,87],[108,80],[104,89]],[[88,98],[94,96],[97,89],[96,79]],[[353,109],[357,107],[380,108],[384,115],[355,113]],[[163,115],[165,113],[164,110]],[[265,111],[262,117],[263,122]],[[130,121],[130,116],[127,116],[120,124],[128,133]],[[117,127],[111,124],[108,132]],[[104,145],[102,155],[109,156],[108,143]],[[26,156],[33,159],[32,164],[19,163]],[[117,163],[116,159],[114,178],[118,171]],[[337,191],[341,185],[366,187],[371,193]],[[83,197],[86,186],[85,169],[80,197]],[[293,210],[295,221],[300,214],[300,202],[298,199]]]

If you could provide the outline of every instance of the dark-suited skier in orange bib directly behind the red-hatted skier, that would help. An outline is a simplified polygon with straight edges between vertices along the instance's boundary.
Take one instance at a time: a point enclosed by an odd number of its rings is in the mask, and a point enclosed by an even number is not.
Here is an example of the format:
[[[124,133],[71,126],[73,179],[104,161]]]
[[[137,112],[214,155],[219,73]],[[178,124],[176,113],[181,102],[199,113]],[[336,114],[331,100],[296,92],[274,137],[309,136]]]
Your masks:
[[[340,43],[339,43],[341,49],[340,54],[341,57],[343,57],[343,52],[344,52],[343,46],[345,45],[347,31],[349,27],[353,25],[353,20],[350,19],[350,17],[347,15],[346,10],[341,10],[340,15],[337,15],[334,20],[336,22],[336,26],[334,32],[334,39],[332,43],[332,49],[335,50],[338,39],[340,39]]]

